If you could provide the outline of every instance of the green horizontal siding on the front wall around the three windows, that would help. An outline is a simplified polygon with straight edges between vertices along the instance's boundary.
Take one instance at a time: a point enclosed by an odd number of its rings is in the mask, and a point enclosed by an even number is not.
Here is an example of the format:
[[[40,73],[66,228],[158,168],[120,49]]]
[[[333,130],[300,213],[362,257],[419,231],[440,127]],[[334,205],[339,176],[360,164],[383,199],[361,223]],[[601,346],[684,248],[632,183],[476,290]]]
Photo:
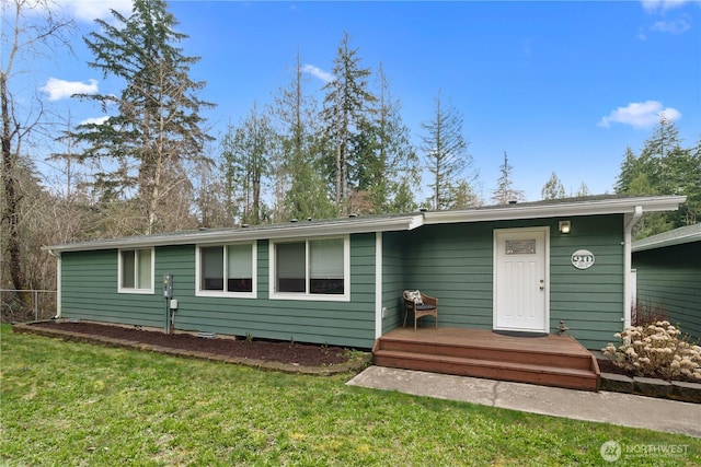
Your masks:
[[[161,279],[173,275],[175,328],[370,348],[375,340],[375,234],[350,238],[350,302],[269,300],[268,242],[257,243],[257,299],[195,295],[195,245],[156,248],[156,293],[117,294],[117,250],[66,253],[68,318],[153,326],[165,323]]]

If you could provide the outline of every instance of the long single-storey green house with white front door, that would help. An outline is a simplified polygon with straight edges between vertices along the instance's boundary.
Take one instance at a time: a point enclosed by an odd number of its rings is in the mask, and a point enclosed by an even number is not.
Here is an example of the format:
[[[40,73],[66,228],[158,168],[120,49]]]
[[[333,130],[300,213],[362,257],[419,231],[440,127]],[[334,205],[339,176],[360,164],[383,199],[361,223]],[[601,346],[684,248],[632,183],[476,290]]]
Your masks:
[[[62,318],[371,348],[402,326],[402,292],[418,289],[439,299],[439,327],[562,323],[599,349],[630,323],[633,225],[683,200],[602,196],[47,248]]]

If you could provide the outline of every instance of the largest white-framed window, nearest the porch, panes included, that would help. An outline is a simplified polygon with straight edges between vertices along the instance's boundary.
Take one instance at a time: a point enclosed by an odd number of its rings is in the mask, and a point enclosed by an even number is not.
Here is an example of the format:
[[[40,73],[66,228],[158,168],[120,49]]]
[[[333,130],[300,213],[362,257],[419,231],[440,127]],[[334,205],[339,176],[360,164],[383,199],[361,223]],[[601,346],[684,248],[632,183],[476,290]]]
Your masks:
[[[347,237],[272,244],[272,297],[349,299]]]

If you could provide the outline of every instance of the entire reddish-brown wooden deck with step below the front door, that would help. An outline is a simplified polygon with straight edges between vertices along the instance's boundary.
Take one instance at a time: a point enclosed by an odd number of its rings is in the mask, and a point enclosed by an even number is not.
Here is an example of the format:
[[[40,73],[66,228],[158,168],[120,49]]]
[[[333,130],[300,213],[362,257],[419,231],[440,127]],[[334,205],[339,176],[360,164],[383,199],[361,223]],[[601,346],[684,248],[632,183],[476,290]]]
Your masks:
[[[380,337],[375,364],[597,390],[596,359],[571,336],[513,337],[483,329],[399,328]]]

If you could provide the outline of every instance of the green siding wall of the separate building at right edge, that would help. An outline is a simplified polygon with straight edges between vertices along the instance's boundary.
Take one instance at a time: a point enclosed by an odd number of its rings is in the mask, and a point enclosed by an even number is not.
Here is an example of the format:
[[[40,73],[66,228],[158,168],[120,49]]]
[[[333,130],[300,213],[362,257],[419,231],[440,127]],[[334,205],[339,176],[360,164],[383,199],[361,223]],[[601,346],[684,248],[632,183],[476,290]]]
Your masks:
[[[637,303],[659,308],[693,340],[701,339],[701,242],[633,254]]]

